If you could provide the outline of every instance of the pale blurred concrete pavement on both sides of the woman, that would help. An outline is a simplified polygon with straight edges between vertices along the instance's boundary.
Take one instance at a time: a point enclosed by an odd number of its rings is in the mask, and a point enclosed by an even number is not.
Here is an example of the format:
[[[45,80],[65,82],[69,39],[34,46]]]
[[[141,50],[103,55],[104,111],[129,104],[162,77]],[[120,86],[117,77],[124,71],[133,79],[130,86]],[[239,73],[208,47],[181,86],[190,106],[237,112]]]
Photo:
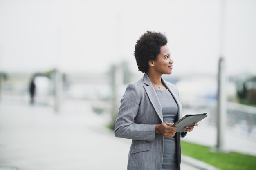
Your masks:
[[[0,101],[0,170],[126,170],[129,139],[116,138],[107,115],[83,101],[60,113],[25,100]],[[199,167],[198,167],[199,166]],[[182,156],[182,170],[214,170]]]

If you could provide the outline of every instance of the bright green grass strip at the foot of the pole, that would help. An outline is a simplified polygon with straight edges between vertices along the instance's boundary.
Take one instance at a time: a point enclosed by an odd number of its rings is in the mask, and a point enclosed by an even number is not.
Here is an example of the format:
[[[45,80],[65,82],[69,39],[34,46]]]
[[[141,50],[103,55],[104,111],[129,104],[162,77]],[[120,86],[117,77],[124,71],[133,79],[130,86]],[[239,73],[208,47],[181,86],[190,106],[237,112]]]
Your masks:
[[[237,152],[212,152],[212,148],[182,141],[182,154],[221,170],[256,170],[256,157]]]

